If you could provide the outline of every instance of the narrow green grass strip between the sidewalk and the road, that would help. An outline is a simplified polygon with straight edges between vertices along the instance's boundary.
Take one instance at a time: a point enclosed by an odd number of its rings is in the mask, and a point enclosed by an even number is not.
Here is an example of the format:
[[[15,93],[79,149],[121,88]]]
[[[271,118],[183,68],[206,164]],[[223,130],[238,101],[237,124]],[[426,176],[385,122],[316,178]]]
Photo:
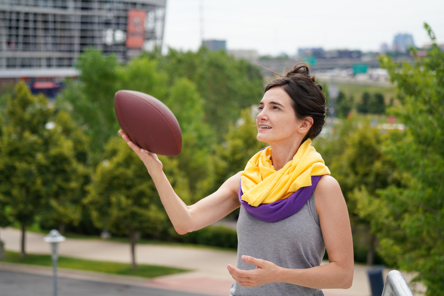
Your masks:
[[[20,263],[40,266],[52,266],[51,255],[28,254],[25,258],[20,258],[16,252],[6,251],[6,256],[0,262]],[[79,269],[93,272],[111,273],[124,276],[140,276],[153,278],[166,276],[178,272],[186,272],[186,269],[169,268],[156,265],[139,264],[137,269],[132,269],[131,264],[105,262],[95,260],[83,260],[70,257],[59,257],[57,266],[59,268]]]

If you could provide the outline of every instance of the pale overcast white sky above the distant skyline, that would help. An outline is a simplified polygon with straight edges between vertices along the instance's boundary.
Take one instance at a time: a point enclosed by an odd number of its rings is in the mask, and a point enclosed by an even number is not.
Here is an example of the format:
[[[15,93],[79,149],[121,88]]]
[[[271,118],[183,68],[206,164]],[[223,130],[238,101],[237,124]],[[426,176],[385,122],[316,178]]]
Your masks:
[[[228,50],[293,56],[298,48],[379,51],[396,34],[430,43],[424,22],[444,43],[444,0],[166,0],[163,51],[196,51],[201,39]]]

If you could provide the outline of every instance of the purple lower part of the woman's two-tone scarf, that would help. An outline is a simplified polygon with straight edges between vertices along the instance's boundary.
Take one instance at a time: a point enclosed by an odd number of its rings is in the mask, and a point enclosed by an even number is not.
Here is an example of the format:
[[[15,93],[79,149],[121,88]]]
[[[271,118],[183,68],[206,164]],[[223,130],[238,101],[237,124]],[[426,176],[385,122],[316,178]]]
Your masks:
[[[264,222],[277,222],[297,213],[297,211],[305,205],[321,177],[322,176],[311,176],[311,186],[297,189],[297,191],[288,198],[274,201],[269,204],[261,204],[257,207],[249,205],[248,202],[242,200],[241,197],[244,193],[242,192],[242,186],[239,182],[239,201],[251,216]]]

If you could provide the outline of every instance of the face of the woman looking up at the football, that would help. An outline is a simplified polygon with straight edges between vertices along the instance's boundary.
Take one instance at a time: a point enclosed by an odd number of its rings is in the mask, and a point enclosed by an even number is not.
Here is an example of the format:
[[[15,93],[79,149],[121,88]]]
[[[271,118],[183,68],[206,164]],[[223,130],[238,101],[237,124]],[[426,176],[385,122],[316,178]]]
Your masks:
[[[272,145],[301,140],[301,134],[297,130],[301,121],[296,118],[291,98],[283,88],[273,87],[268,90],[258,109],[258,141]]]

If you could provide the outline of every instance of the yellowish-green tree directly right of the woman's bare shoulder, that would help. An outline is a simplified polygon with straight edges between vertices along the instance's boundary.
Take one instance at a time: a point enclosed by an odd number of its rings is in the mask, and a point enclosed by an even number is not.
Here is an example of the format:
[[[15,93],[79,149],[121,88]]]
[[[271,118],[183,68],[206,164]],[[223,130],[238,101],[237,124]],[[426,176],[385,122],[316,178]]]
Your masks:
[[[327,153],[321,152],[333,177],[341,184],[347,207],[351,216],[353,229],[369,233],[371,219],[360,217],[357,209],[356,190],[365,189],[369,197],[376,198],[378,189],[390,185],[400,186],[401,174],[389,155],[383,154],[385,138],[381,130],[372,129],[367,121],[356,122],[347,120],[342,126],[337,126],[338,137],[324,143]],[[337,139],[339,138],[339,139]],[[373,264],[377,241],[375,233],[369,233],[368,238],[355,241],[355,256],[367,252],[367,264]],[[360,242],[362,241],[362,243]],[[362,251],[361,251],[362,250]],[[358,258],[357,258],[358,259]],[[364,258],[359,258],[362,260]]]

